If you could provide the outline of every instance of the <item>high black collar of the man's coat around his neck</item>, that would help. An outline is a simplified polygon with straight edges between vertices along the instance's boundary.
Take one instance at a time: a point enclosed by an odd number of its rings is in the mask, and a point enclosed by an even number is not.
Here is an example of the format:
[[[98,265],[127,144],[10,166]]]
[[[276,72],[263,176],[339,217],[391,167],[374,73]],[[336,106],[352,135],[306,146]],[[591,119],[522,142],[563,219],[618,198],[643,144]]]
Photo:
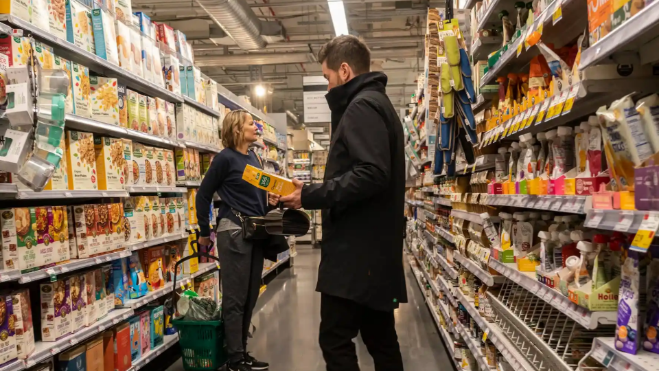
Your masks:
[[[343,117],[348,104],[352,102],[360,91],[373,90],[385,93],[384,87],[386,87],[386,75],[382,74],[382,72],[369,72],[356,76],[345,84],[330,89],[325,95],[325,99],[327,99],[327,105],[332,111],[332,133],[334,133],[336,125],[338,125],[341,117]]]

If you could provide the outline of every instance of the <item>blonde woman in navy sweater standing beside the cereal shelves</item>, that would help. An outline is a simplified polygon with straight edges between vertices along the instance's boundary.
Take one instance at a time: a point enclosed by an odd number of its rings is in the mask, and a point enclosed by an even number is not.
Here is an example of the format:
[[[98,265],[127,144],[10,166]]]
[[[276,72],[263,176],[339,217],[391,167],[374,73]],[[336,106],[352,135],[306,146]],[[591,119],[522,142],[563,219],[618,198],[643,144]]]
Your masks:
[[[259,243],[242,238],[241,216],[264,216],[268,203],[277,205],[279,196],[260,190],[242,180],[246,165],[263,168],[249,145],[256,142],[257,126],[244,110],[231,111],[222,122],[222,150],[211,163],[197,193],[197,219],[201,230],[199,245],[211,245],[209,209],[218,192],[218,252],[222,267],[222,311],[229,352],[229,371],[266,370],[268,363],[247,352],[247,335],[252,311],[259,297],[263,271],[263,249]]]

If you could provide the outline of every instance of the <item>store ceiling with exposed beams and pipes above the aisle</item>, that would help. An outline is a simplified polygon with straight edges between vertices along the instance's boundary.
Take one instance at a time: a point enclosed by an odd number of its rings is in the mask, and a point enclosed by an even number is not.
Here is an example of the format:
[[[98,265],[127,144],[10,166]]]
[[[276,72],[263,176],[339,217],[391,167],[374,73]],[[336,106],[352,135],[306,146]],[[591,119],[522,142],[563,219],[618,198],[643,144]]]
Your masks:
[[[389,76],[387,93],[397,108],[403,107],[410,102],[417,76],[424,69],[426,9],[443,2],[343,2],[350,33],[369,45],[372,69]],[[250,95],[253,105],[267,106],[270,112],[302,113],[302,76],[321,74],[316,53],[334,36],[327,1],[133,0],[132,6],[153,21],[183,31],[193,42],[195,64],[203,73],[238,95]],[[227,6],[245,16],[227,17]],[[240,36],[236,37],[239,42],[218,23],[240,28],[231,32]],[[256,36],[244,32],[251,27],[260,28],[260,35],[258,30]],[[270,87],[265,98],[251,93],[258,82]]]

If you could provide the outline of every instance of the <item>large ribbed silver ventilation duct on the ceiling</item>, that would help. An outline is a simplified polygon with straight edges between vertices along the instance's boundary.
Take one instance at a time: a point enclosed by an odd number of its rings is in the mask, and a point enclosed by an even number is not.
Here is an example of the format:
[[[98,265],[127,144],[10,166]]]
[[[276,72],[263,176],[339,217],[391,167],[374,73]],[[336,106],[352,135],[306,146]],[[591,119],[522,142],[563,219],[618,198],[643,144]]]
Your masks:
[[[244,0],[196,0],[240,49],[254,51],[264,49],[270,41],[283,40],[281,24],[265,22],[257,18]],[[221,43],[222,37],[216,42]]]

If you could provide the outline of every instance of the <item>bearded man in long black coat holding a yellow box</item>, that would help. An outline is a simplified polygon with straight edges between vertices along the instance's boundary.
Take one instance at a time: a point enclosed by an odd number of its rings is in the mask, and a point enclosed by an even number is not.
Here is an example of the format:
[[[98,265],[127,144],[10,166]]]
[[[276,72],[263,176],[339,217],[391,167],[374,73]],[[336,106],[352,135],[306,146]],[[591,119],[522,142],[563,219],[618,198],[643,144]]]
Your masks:
[[[323,209],[316,291],[327,371],[359,370],[352,341],[358,333],[376,371],[402,371],[393,315],[407,302],[402,124],[384,93],[386,75],[369,72],[371,52],[358,38],[333,38],[318,60],[332,111],[325,181],[303,186],[293,179],[297,190],[280,201]]]

